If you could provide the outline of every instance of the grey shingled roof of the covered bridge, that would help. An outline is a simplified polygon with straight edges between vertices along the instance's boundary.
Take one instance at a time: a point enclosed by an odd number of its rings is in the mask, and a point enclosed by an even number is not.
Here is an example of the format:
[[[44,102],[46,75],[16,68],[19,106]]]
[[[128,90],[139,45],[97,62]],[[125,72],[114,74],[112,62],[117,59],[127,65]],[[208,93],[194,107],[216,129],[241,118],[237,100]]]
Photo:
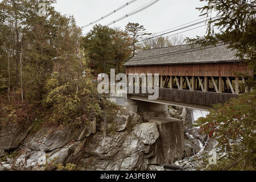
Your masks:
[[[200,64],[240,61],[236,51],[227,45],[200,47],[185,44],[164,48],[147,49],[138,53],[125,66],[167,65],[167,64]]]

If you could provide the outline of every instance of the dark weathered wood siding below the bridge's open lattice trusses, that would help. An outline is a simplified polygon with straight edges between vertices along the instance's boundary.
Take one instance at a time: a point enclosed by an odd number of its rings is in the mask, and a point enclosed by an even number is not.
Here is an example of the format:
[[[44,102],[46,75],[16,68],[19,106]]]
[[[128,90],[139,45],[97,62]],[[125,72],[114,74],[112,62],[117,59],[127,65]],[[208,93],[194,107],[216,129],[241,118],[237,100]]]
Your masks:
[[[148,97],[149,94],[130,94],[133,96]],[[151,95],[151,94],[150,94]],[[230,98],[237,97],[236,94],[200,92],[191,90],[159,88],[159,100],[184,102],[187,104],[212,106],[213,104],[225,104]]]

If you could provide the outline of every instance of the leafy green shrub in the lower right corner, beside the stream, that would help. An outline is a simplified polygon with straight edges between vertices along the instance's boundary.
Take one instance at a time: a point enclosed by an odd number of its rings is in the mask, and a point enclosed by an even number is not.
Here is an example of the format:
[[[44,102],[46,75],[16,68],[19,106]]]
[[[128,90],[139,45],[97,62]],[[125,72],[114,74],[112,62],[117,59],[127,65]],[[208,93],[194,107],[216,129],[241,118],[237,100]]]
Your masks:
[[[217,138],[225,158],[218,160],[218,170],[255,170],[256,167],[256,91],[233,98],[224,106],[215,106],[195,126],[209,137]]]

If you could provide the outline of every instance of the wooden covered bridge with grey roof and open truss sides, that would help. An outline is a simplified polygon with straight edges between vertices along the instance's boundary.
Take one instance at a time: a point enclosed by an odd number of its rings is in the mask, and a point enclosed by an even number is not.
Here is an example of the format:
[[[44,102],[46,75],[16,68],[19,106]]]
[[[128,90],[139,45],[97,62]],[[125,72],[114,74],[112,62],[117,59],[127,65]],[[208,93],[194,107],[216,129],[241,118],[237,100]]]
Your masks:
[[[209,109],[213,104],[224,104],[232,97],[246,92],[245,77],[238,73],[253,74],[236,51],[224,44],[208,47],[189,45],[147,49],[126,64],[126,75],[158,73],[159,98],[147,100],[148,94],[132,93],[130,99]],[[146,86],[146,85],[141,85]]]

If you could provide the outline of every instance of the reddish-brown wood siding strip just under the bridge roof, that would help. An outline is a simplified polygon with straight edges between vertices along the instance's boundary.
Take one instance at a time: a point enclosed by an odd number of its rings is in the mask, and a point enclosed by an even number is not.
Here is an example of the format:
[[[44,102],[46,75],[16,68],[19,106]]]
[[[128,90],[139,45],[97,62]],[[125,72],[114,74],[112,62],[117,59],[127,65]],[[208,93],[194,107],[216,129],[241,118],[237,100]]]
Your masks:
[[[148,65],[126,67],[129,73],[159,73],[161,76],[216,76],[236,77],[236,73],[249,73],[253,71],[246,64],[239,63],[211,63],[211,64],[183,64],[183,65]]]

